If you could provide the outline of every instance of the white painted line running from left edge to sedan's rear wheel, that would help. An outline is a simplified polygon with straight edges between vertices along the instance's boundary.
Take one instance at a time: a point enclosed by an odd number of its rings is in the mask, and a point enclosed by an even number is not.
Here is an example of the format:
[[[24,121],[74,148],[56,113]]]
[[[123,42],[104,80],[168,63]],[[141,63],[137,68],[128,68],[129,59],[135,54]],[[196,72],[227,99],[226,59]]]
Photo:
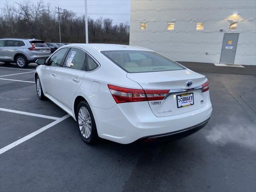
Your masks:
[[[50,123],[50,124],[40,128],[38,130],[36,130],[35,132],[32,132],[32,133],[28,134],[27,136],[24,136],[23,138],[21,138],[21,139],[15,141],[15,142],[9,144],[8,146],[3,147],[2,149],[0,149],[0,154],[10,150],[11,148],[14,148],[15,146],[23,143],[24,141],[29,140],[30,138],[32,138],[32,137],[42,133],[43,131],[47,130],[48,128],[50,128],[50,127],[52,127],[52,126],[54,126],[56,124],[58,124],[59,122],[62,122],[63,120],[65,120],[68,117],[70,117],[70,115],[67,114],[67,115],[63,116],[62,118],[59,118],[58,120],[56,120],[56,121],[54,121],[54,122],[52,122],[52,123]]]

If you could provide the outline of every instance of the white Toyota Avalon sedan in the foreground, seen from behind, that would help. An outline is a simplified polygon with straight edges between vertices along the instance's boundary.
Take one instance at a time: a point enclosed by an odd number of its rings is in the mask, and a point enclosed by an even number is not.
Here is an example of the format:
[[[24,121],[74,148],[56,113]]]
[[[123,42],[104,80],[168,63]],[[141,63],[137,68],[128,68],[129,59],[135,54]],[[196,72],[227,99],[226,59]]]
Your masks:
[[[212,113],[204,75],[146,48],[69,44],[37,64],[38,98],[70,114],[86,143],[176,140]]]

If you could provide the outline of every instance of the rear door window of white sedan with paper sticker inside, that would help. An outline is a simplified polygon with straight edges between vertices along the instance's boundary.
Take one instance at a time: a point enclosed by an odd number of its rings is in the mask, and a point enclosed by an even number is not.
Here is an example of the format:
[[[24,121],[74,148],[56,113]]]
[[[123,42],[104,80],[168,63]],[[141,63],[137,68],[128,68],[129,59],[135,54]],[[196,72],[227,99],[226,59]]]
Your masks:
[[[86,53],[83,50],[71,48],[63,67],[85,71],[85,56]]]

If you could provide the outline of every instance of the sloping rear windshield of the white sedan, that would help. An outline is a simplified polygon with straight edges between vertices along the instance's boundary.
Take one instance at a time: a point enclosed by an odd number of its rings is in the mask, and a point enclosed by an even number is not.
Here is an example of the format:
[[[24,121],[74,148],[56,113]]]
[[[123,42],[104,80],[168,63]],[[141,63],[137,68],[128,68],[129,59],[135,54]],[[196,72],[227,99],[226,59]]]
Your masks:
[[[180,64],[150,51],[101,51],[108,59],[129,73],[185,69]]]

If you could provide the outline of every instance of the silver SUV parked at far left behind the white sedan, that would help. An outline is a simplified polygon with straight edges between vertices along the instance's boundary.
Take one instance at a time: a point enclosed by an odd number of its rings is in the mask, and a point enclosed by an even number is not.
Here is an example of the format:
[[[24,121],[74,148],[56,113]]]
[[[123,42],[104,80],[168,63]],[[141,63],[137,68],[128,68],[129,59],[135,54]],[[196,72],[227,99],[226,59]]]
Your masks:
[[[42,40],[22,38],[0,39],[0,61],[5,63],[15,62],[18,67],[26,68],[29,63],[39,58],[48,58],[50,48]]]

